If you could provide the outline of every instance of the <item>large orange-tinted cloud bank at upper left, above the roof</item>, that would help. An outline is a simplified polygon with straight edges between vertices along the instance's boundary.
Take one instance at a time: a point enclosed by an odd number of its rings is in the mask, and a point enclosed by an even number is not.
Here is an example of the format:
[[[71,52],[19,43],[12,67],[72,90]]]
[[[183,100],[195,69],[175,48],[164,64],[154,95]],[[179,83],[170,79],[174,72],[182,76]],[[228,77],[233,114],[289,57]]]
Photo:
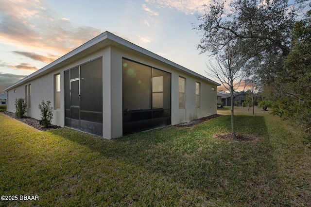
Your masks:
[[[99,35],[100,30],[76,26],[48,9],[40,0],[1,1],[0,43],[59,56]]]

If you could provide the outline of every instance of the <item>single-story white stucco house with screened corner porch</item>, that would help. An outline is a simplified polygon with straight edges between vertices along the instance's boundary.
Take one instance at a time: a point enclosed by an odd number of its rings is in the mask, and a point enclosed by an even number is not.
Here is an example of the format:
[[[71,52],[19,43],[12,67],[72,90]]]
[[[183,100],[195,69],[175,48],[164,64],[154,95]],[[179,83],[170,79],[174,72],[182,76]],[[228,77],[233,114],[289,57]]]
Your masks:
[[[218,83],[109,32],[5,89],[7,111],[51,101],[52,124],[118,138],[217,113]]]

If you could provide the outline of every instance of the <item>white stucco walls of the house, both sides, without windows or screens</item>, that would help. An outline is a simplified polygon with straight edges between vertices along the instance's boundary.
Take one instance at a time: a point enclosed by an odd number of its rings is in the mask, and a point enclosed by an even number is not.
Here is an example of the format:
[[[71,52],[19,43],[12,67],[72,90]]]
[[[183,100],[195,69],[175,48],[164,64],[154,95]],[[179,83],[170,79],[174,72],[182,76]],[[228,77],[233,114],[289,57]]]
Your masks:
[[[64,126],[64,71],[84,64],[93,59],[103,57],[103,137],[119,138],[122,137],[122,58],[127,58],[138,63],[145,64],[156,69],[161,69],[172,74],[171,86],[171,111],[172,125],[181,122],[202,118],[208,115],[216,114],[216,87],[206,80],[194,77],[185,72],[165,64],[138,56],[113,46],[107,46],[97,52],[82,57],[76,61],[69,62],[66,66],[54,69],[52,72],[42,75],[23,83],[21,86],[14,87],[8,92],[8,111],[15,112],[15,99],[25,98],[25,86],[32,86],[32,107],[29,108],[27,116],[35,119],[40,118],[38,105],[42,100],[51,101],[54,107],[54,75],[60,73],[61,78],[61,107],[53,111],[52,124]],[[178,77],[186,78],[186,103],[185,109],[178,107]],[[195,82],[201,83],[201,103],[200,107],[195,105]],[[14,92],[15,90],[15,92]],[[91,92],[91,91],[90,91]]]

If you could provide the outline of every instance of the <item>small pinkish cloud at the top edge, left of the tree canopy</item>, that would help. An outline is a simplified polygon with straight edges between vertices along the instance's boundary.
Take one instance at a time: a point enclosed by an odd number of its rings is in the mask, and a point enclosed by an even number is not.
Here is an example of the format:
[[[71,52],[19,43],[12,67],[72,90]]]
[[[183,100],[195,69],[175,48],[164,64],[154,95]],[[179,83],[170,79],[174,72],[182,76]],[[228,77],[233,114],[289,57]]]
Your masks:
[[[155,4],[158,8],[177,9],[186,15],[195,13],[204,14],[203,4],[207,4],[207,0],[145,0],[148,3]]]

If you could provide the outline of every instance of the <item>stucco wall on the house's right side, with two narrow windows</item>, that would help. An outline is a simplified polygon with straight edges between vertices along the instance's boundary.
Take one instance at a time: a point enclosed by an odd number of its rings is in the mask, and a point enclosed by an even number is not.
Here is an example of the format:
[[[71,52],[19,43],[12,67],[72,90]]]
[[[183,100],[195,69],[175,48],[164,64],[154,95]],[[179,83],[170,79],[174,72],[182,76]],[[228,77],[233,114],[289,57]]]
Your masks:
[[[112,138],[122,136],[122,58],[127,58],[141,64],[161,69],[172,74],[171,111],[172,125],[213,115],[217,113],[217,86],[211,83],[190,76],[187,73],[177,71],[173,67],[159,64],[136,54],[122,51],[111,47],[111,135]],[[186,78],[186,103],[185,109],[179,109],[178,104],[178,77]],[[195,82],[201,83],[200,107],[195,104]],[[213,91],[211,87],[215,87]]]

